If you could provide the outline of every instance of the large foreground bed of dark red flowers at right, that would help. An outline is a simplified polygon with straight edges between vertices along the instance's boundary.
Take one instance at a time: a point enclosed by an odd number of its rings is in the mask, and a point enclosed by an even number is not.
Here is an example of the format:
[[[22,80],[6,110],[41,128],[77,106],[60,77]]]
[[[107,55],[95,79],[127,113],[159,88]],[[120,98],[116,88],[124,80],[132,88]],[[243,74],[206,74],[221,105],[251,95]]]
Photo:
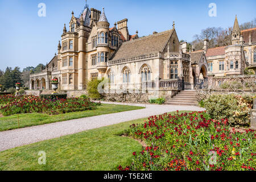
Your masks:
[[[150,117],[132,125],[125,135],[146,142],[133,152],[130,167],[119,170],[254,170],[256,144],[253,130],[230,130],[227,119],[214,121],[205,112]]]

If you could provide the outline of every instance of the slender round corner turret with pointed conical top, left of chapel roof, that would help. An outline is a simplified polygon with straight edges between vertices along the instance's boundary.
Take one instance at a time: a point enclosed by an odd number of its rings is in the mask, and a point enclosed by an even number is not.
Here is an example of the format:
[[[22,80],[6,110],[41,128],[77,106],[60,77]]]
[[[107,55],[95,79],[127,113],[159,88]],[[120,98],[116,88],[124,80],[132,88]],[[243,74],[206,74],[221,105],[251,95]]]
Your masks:
[[[98,78],[105,75],[110,55],[109,47],[109,22],[103,8],[100,19],[97,23],[97,69]]]

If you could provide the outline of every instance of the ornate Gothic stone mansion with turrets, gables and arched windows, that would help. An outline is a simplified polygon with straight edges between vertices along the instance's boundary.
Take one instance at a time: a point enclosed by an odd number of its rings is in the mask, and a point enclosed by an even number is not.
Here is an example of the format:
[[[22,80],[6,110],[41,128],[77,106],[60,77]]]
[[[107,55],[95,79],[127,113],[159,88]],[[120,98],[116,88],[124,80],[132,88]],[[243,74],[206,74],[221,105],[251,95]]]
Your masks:
[[[105,77],[112,89],[133,89],[146,82],[162,90],[184,90],[209,75],[242,75],[256,64],[256,29],[240,31],[237,18],[232,45],[209,48],[205,40],[201,51],[187,51],[175,24],[171,30],[139,38],[138,31],[130,35],[127,19],[110,27],[106,14],[88,6],[79,17],[72,12],[57,55],[42,72],[30,75],[30,89],[51,90],[50,82],[57,78],[61,90],[85,90],[88,81]]]

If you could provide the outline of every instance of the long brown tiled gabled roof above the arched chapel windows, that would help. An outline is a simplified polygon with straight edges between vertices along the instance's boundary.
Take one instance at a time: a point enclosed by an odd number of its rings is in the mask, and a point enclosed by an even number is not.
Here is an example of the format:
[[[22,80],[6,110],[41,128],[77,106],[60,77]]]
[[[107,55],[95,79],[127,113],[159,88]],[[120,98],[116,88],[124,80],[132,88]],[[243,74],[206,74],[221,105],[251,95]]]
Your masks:
[[[112,60],[162,52],[173,31],[174,29],[124,42],[114,54]]]

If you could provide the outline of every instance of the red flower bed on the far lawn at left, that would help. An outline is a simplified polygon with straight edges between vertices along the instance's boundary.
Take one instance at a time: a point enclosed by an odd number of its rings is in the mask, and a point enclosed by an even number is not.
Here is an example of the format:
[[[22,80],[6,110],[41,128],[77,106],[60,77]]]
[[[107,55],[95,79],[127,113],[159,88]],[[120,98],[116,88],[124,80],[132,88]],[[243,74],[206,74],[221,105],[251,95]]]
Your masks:
[[[13,96],[0,95],[0,112],[4,115],[13,115],[20,113],[48,113],[59,114],[72,111],[84,111],[95,109],[97,103],[90,102],[88,99],[82,98],[67,98],[48,100],[36,96]]]

